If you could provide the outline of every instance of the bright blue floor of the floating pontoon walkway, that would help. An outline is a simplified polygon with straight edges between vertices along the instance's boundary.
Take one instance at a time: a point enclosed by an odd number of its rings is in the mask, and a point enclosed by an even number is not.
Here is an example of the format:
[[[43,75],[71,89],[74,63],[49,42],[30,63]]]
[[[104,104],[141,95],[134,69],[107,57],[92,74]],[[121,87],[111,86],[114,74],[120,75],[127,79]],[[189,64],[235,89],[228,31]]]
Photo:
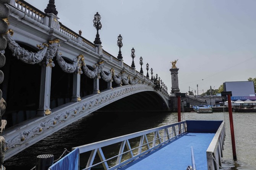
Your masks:
[[[194,149],[196,170],[207,170],[206,150],[215,133],[187,133],[118,170],[186,170]]]

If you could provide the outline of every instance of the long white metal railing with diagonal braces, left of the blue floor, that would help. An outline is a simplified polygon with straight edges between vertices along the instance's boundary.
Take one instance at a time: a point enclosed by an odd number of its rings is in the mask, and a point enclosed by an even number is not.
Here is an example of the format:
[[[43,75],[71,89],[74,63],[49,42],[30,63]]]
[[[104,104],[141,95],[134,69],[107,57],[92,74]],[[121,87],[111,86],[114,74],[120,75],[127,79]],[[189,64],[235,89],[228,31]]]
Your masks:
[[[135,159],[138,159],[144,154],[149,153],[150,151],[164,145],[165,143],[168,143],[169,141],[183,135],[184,133],[186,133],[186,121],[156,127],[141,132],[131,133],[129,135],[123,135],[120,137],[111,138],[109,140],[78,146],[72,148],[72,150],[78,148],[80,154],[91,152],[87,160],[86,168],[83,170],[90,170],[92,167],[96,167],[97,165],[102,165],[105,170],[114,170],[120,166],[128,164]],[[133,141],[132,145],[129,140]],[[106,158],[103,152],[103,148],[110,145],[120,145],[119,152],[116,151],[115,156]],[[96,154],[98,154],[100,162],[94,161]],[[85,161],[86,160],[83,160],[80,157],[80,162]]]

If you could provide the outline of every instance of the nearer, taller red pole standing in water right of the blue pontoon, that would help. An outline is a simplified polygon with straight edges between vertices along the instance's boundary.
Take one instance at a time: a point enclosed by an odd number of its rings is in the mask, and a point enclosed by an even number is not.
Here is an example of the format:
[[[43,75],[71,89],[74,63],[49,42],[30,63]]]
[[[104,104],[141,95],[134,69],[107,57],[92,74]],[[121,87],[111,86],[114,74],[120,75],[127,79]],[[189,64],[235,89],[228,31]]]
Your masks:
[[[230,96],[231,95],[228,94],[228,113],[229,113],[229,122],[230,122],[230,133],[231,133],[231,141],[232,141],[233,159],[237,159],[237,153],[235,149],[235,134],[234,134],[234,126],[233,126],[232,105],[231,105]]]

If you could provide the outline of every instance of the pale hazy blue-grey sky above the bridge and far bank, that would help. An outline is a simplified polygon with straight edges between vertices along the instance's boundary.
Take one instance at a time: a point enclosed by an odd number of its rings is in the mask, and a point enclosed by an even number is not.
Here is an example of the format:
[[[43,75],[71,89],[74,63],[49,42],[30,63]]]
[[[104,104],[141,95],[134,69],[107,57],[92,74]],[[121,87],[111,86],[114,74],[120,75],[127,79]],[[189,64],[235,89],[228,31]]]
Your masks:
[[[25,0],[44,11],[49,0]],[[225,81],[256,77],[256,0],[55,0],[58,21],[93,42],[94,14],[101,15],[103,49],[118,55],[123,37],[123,60],[131,65],[135,49],[171,91],[172,64],[178,59],[180,92],[199,94]],[[150,72],[150,71],[149,71]],[[149,73],[150,75],[150,73]],[[151,76],[151,75],[150,75]],[[193,90],[194,92],[194,90]]]

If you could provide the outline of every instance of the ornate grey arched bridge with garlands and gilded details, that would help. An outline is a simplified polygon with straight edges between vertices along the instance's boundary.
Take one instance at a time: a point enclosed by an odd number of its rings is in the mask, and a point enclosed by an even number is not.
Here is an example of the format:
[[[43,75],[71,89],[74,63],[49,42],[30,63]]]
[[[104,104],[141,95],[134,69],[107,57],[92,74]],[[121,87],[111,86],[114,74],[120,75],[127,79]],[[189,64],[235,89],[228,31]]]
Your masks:
[[[8,7],[5,160],[96,110],[168,108],[167,88],[157,79],[60,24],[55,14],[19,0]]]

